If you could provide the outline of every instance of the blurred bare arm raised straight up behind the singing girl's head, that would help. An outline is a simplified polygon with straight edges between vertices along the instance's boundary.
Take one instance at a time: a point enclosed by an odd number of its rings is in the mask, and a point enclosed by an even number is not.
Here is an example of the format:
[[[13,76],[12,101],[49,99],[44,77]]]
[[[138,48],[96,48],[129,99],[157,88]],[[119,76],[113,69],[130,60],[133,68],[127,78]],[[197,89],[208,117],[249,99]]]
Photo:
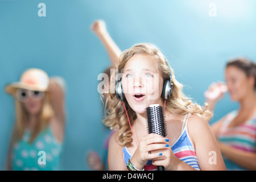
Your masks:
[[[100,38],[109,54],[110,60],[112,61],[110,68],[116,68],[122,51],[119,49],[117,44],[115,44],[114,40],[106,30],[105,22],[103,20],[97,20],[94,22],[92,31],[98,36],[98,38]]]

